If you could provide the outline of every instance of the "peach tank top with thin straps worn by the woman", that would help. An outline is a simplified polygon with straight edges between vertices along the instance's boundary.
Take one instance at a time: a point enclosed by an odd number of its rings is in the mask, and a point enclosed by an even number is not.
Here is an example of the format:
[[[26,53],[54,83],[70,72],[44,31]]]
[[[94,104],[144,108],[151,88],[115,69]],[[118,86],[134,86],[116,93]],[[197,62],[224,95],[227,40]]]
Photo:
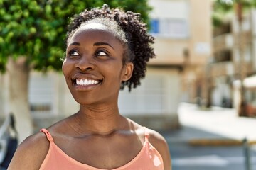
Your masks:
[[[53,137],[46,129],[42,129],[41,132],[46,134],[47,139],[50,142],[50,147],[46,158],[43,160],[43,164],[39,170],[104,170],[97,169],[87,164],[82,164],[75,159],[65,154],[53,141]],[[145,142],[140,150],[131,162],[116,168],[114,170],[163,170],[164,163],[159,152],[149,142],[149,134],[145,133]]]

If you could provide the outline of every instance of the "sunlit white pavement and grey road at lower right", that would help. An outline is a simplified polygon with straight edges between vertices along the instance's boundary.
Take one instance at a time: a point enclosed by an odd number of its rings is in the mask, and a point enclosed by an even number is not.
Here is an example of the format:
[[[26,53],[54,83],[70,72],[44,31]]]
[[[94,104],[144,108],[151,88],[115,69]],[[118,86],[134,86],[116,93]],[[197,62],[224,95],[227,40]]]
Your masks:
[[[173,170],[256,169],[256,145],[247,145],[246,150],[242,143],[245,137],[255,140],[255,118],[238,118],[231,109],[199,111],[189,105],[181,105],[178,114],[181,128],[161,132],[169,143]],[[248,126],[254,129],[247,130]]]

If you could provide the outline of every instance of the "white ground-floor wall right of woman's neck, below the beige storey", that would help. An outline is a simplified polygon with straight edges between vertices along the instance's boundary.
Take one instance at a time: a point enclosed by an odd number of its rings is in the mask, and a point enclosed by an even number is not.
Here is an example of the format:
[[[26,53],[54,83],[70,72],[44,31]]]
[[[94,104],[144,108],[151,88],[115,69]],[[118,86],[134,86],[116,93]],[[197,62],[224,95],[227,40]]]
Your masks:
[[[142,85],[120,91],[119,110],[124,115],[176,114],[180,102],[180,77],[174,69],[148,69]]]

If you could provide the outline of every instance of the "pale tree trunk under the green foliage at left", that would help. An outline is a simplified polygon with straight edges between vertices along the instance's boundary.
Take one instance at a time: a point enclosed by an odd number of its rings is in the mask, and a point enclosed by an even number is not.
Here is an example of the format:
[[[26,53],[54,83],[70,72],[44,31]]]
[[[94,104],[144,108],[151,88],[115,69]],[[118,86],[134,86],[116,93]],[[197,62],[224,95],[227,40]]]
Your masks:
[[[7,63],[7,73],[9,74],[9,106],[16,120],[19,142],[22,142],[33,132],[28,103],[29,71],[26,57],[18,57],[17,60],[9,57]]]

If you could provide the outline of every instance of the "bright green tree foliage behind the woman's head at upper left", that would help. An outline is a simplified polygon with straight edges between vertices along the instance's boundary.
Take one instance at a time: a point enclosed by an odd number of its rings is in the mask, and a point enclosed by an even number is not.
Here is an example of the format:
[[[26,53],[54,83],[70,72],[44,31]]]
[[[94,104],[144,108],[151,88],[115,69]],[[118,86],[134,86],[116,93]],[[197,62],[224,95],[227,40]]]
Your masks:
[[[139,12],[149,21],[146,0],[0,0],[0,70],[6,69],[8,57],[20,56],[33,69],[59,70],[69,18],[102,4]]]

